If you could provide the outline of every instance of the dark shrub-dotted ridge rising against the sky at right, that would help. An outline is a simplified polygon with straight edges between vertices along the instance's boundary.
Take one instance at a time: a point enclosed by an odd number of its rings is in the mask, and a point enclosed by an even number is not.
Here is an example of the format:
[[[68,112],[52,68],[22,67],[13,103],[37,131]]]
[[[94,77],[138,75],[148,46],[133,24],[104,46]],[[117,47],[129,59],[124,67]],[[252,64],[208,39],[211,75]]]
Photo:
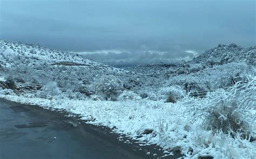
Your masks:
[[[181,61],[180,63],[142,64],[125,69],[144,74],[152,74],[154,76],[159,76],[160,74],[164,75],[164,72],[166,73],[165,76],[169,76],[167,74],[170,74],[170,72],[174,73],[174,71],[178,70],[180,67],[187,67],[187,69],[192,69],[192,71],[194,71],[196,69],[202,69],[200,67],[211,67],[211,64],[216,66],[242,61],[253,66],[256,65],[256,46],[244,48],[236,44],[220,44],[217,47],[208,49],[205,53],[194,57],[191,61]]]

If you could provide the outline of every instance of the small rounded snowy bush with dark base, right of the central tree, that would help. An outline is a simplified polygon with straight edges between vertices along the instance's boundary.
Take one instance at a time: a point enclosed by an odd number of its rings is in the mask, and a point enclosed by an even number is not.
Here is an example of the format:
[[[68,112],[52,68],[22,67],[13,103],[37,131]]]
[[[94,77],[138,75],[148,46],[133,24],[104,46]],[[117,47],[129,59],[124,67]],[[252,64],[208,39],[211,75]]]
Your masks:
[[[182,89],[179,85],[163,87],[160,89],[159,93],[167,103],[176,103],[177,100],[183,98],[186,94],[184,89]]]

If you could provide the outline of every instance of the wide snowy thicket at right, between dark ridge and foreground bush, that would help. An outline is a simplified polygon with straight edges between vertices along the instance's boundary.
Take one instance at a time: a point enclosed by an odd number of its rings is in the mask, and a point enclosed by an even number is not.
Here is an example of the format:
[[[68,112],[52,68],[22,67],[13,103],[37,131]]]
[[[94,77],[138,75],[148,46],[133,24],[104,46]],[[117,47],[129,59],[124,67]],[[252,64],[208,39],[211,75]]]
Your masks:
[[[232,86],[231,77],[244,77],[247,73],[253,74],[254,68],[245,62],[231,62],[214,68],[205,68],[201,71],[186,75],[171,76],[169,85],[182,85],[187,92],[193,94]],[[237,80],[237,79],[235,79]]]

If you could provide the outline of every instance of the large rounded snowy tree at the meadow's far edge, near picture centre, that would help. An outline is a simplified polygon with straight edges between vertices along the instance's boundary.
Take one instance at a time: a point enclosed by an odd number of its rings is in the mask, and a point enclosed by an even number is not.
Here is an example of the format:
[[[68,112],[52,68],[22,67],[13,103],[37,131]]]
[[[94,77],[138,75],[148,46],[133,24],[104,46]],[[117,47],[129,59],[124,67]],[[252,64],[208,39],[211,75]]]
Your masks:
[[[116,100],[122,89],[123,82],[113,75],[103,76],[95,81],[95,92],[106,100]]]

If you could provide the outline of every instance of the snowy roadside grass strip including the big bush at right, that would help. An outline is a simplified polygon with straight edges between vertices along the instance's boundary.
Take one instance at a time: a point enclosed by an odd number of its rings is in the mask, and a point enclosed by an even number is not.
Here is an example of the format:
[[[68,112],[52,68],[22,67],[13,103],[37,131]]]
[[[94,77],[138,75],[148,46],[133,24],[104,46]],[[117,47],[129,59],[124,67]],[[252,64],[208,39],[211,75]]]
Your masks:
[[[117,133],[165,150],[180,150],[187,158],[255,156],[255,77],[228,90],[208,92],[203,99],[186,96],[175,104],[145,99],[112,102],[4,97],[78,113],[92,124],[116,127]]]

